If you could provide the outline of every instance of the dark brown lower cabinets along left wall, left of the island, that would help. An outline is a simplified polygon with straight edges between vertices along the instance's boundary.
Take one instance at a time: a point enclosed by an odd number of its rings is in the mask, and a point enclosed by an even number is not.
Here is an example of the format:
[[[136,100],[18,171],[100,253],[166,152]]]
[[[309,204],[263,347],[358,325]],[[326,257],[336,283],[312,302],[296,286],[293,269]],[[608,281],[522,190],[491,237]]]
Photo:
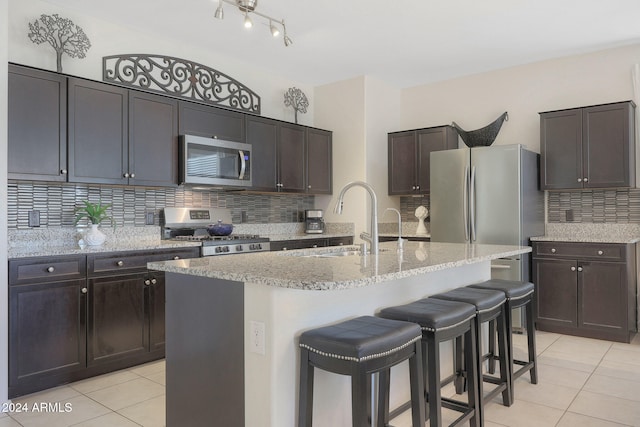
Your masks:
[[[9,397],[164,357],[164,273],[199,248],[9,261]]]

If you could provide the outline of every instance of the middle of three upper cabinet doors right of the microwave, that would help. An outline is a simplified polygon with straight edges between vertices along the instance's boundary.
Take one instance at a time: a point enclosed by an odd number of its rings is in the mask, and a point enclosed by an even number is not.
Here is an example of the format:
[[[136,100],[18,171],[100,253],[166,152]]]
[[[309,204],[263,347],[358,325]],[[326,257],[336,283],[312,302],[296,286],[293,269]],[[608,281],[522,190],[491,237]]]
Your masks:
[[[278,140],[278,184],[280,191],[304,193],[305,128],[293,124],[280,125]]]

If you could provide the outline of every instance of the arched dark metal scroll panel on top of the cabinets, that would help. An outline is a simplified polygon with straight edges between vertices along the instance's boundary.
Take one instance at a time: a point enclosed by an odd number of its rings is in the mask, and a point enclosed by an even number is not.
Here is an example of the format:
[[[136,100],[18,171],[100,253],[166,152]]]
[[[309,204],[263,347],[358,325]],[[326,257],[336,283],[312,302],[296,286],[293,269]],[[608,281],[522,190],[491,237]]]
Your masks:
[[[220,71],[186,59],[112,55],[102,58],[102,70],[105,82],[260,114],[260,97],[254,91]]]

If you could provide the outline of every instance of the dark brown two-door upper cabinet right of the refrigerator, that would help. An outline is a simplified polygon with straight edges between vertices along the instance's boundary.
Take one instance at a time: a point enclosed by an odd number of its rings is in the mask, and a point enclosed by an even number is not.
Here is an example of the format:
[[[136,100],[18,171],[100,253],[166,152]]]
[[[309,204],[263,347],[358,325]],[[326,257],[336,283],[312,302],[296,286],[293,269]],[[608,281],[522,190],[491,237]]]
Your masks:
[[[540,113],[544,190],[635,186],[632,101]]]

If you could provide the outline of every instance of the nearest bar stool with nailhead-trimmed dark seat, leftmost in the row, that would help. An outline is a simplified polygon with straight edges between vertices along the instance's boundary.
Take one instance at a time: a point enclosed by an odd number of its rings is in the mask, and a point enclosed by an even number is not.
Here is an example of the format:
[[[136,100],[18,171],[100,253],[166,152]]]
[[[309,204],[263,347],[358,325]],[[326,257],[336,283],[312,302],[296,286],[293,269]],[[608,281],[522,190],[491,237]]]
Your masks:
[[[413,427],[424,427],[422,332],[415,323],[362,316],[300,335],[298,427],[310,427],[314,368],[351,376],[353,427],[371,425],[371,374],[409,360]],[[388,396],[382,390],[379,396]],[[377,425],[384,427],[384,420]]]

